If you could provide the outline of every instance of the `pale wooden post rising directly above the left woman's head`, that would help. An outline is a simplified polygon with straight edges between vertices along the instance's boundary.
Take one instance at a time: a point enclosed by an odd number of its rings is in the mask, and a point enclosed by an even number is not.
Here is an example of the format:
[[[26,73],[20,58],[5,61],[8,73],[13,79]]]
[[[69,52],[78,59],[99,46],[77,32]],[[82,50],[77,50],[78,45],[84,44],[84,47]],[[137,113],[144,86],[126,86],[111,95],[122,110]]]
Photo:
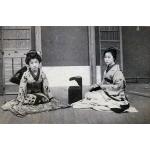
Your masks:
[[[41,44],[41,27],[35,27],[35,49],[40,51],[42,54],[42,44]]]

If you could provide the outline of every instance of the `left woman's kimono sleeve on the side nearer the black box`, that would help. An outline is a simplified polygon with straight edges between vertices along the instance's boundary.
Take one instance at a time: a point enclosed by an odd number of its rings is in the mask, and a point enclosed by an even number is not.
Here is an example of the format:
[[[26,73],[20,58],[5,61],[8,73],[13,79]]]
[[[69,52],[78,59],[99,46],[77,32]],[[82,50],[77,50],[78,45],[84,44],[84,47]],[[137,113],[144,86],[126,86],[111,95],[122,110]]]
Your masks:
[[[46,74],[44,72],[42,72],[42,80],[43,80],[43,92],[44,92],[44,94],[49,99],[53,98],[53,95],[52,95],[52,93],[50,91],[48,79],[47,79]]]

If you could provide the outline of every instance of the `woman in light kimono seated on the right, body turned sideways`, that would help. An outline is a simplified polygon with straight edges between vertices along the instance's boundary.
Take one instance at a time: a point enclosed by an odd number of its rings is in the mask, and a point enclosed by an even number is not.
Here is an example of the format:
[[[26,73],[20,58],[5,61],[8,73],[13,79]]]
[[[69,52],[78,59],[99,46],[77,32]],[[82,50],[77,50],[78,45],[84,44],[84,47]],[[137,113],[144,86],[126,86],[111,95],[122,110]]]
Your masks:
[[[104,62],[107,65],[103,80],[99,84],[92,85],[85,98],[73,103],[73,108],[92,108],[95,110],[112,110],[121,113],[129,108],[129,102],[125,96],[125,78],[119,65],[115,63],[117,50],[108,48],[104,52]]]

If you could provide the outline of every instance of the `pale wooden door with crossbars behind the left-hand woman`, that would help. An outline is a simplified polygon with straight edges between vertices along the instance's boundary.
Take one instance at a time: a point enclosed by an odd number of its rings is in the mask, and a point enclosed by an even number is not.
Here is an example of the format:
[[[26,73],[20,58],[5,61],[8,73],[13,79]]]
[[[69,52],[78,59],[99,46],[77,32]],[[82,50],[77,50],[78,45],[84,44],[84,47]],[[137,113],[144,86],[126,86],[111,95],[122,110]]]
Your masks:
[[[9,79],[25,65],[26,53],[31,49],[31,27],[5,26],[3,32],[4,75],[5,84],[11,84]]]

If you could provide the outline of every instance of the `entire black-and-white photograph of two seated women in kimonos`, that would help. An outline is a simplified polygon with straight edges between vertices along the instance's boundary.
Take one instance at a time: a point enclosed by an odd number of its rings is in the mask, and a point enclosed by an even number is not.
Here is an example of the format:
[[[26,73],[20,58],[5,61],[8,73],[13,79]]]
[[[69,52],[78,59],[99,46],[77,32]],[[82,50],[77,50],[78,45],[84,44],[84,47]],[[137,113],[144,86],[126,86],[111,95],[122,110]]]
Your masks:
[[[0,124],[149,124],[150,26],[1,26]]]

